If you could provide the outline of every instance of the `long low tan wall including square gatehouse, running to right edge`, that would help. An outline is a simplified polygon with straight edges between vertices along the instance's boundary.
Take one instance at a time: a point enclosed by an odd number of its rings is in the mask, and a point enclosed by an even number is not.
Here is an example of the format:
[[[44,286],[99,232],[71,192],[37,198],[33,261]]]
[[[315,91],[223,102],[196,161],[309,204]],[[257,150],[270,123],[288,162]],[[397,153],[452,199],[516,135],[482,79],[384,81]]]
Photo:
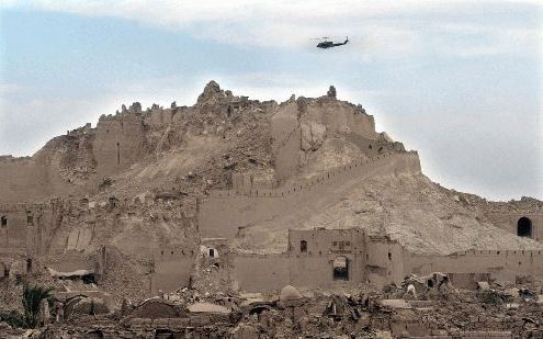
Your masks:
[[[450,274],[457,287],[470,289],[473,279],[516,281],[517,276],[543,279],[543,252],[536,250],[470,250],[450,256],[419,256],[406,251],[397,241],[352,236],[355,229],[290,230],[290,249],[281,255],[234,255],[231,278],[242,291],[256,292],[281,289],[286,284],[298,287],[332,286],[333,284],[372,283],[399,285],[405,276],[433,272]],[[343,233],[343,237],[338,231]],[[310,234],[316,234],[312,237]],[[347,235],[347,237],[346,237]],[[328,238],[328,240],[327,240]],[[331,250],[330,244],[350,239],[357,250]],[[299,250],[299,239],[307,240],[307,252]],[[324,240],[323,240],[324,239]],[[332,276],[333,259],[349,259],[349,280]],[[471,280],[470,280],[471,279]]]

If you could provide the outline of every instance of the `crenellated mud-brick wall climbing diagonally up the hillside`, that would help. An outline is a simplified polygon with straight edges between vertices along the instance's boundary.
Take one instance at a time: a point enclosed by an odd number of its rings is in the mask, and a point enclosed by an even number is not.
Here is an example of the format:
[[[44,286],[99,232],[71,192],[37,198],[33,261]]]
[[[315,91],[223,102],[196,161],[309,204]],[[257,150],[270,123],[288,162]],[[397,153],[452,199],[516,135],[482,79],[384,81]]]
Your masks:
[[[372,176],[419,172],[416,152],[389,154],[355,161],[290,187],[251,190],[246,194],[231,190],[212,191],[200,205],[199,229],[202,237],[234,238],[240,228],[289,214],[302,205],[307,210],[318,210],[319,204],[339,201],[341,194],[350,190],[350,182]]]

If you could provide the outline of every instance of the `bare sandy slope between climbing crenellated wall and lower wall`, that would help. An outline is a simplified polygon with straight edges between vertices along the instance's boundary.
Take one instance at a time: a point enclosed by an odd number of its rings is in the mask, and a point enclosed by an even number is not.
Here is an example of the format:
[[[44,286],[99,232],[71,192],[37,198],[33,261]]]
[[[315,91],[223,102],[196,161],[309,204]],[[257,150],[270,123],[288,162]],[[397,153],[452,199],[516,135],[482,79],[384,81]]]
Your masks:
[[[246,228],[236,246],[281,252],[289,228],[361,227],[387,234],[418,253],[449,255],[466,249],[534,249],[543,245],[507,233],[480,216],[478,207],[420,173],[381,176],[382,169],[333,184],[326,194],[304,196],[292,211]]]

